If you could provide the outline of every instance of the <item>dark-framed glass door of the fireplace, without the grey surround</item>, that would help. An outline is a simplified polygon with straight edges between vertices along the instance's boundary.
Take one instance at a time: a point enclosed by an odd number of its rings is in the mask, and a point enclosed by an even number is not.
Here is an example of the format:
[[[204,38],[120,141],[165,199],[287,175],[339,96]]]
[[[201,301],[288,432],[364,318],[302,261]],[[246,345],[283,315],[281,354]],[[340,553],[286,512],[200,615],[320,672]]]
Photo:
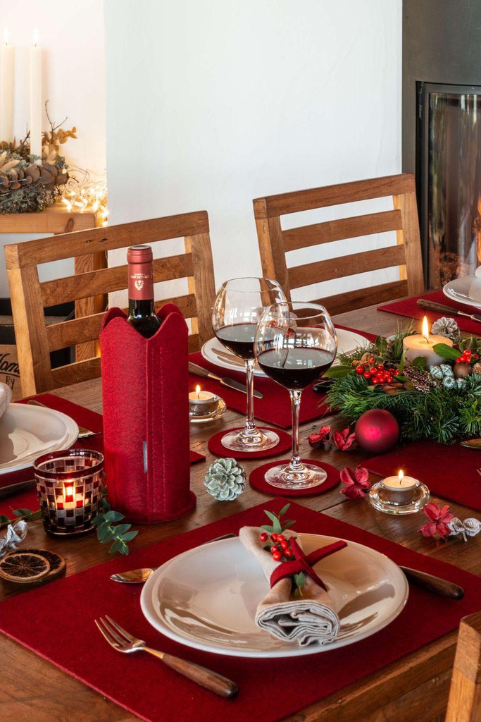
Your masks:
[[[481,263],[481,87],[417,83],[417,181],[428,288]]]

